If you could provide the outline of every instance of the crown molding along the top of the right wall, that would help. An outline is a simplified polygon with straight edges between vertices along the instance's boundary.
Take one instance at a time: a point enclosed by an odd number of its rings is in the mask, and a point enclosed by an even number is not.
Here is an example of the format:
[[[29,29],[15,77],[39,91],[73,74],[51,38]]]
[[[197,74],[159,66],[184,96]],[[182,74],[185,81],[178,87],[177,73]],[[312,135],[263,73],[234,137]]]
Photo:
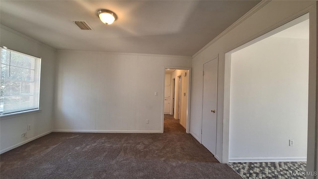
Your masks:
[[[241,16],[237,21],[235,21],[232,25],[230,25],[227,29],[225,29],[222,33],[220,33],[217,37],[215,37],[213,40],[211,40],[208,44],[206,44],[203,48],[201,48],[197,53],[195,53],[192,57],[196,57],[199,55],[203,50],[210,47],[213,43],[218,41],[221,37],[229,33],[231,30],[233,30],[235,27],[237,27],[239,24],[241,24],[243,21],[245,21],[248,17],[253,15],[255,12],[257,12],[259,9],[263,8],[266,4],[268,4],[271,0],[262,0],[257,5],[255,5],[252,9],[250,9],[248,12],[246,12],[243,16]]]

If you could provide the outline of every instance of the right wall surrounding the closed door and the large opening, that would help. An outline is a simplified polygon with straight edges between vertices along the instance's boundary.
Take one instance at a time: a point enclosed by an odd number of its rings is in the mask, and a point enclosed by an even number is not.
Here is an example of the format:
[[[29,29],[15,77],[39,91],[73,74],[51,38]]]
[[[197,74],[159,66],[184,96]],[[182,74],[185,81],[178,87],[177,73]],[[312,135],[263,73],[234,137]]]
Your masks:
[[[192,61],[192,89],[191,89],[191,120],[190,133],[196,138],[201,138],[201,120],[202,120],[202,71],[203,64],[215,57],[219,57],[218,66],[218,126],[217,126],[217,152],[216,158],[223,163],[228,162],[229,157],[229,118],[224,114],[224,91],[225,91],[225,53],[247,43],[248,41],[273,30],[274,28],[310,12],[311,35],[311,55],[310,59],[316,64],[316,1],[262,1],[254,7],[249,13],[241,17],[235,24],[212,40],[197,54]],[[312,76],[310,76],[310,94],[316,94],[316,65],[310,66]],[[226,86],[227,87],[227,86]],[[310,98],[310,106],[315,106],[316,97]],[[226,99],[228,100],[228,99]],[[309,150],[314,149],[315,144],[315,107],[310,107],[309,112],[309,130],[308,138],[311,142]],[[224,113],[225,112],[225,113]],[[314,125],[313,125],[314,124]],[[314,156],[314,152],[310,153]],[[314,157],[312,157],[314,158]],[[314,166],[313,160],[308,159],[309,166]],[[313,168],[312,168],[313,171]]]

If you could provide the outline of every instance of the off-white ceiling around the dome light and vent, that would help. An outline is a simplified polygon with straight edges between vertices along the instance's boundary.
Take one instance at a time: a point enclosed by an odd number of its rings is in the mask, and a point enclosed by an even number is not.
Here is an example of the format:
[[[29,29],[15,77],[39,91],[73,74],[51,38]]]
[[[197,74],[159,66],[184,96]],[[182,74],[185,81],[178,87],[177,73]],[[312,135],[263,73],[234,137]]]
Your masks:
[[[0,23],[56,49],[192,56],[259,1],[1,0]],[[99,8],[118,20],[103,24]]]

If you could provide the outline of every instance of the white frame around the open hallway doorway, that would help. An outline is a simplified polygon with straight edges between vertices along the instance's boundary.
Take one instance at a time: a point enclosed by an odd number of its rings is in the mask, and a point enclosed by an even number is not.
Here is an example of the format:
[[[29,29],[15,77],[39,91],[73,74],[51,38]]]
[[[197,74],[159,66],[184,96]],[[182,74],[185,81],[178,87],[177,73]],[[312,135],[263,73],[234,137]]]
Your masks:
[[[162,68],[162,91],[164,91],[165,81],[165,70],[166,69],[177,69],[177,70],[189,70],[189,83],[188,83],[188,99],[187,99],[187,111],[186,111],[186,128],[185,132],[190,133],[190,103],[191,103],[191,67],[174,67],[174,66],[163,66]],[[163,122],[164,122],[164,95],[162,94],[162,106],[161,106],[161,133],[163,133]]]

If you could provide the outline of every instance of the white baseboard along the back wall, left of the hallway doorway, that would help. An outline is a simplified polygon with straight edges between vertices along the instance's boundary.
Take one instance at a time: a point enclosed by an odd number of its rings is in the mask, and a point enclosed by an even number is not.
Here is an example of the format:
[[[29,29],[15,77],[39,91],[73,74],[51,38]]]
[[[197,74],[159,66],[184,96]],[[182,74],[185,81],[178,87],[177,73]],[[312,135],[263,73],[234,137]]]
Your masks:
[[[162,131],[139,131],[139,130],[53,130],[52,132],[82,132],[82,133],[162,133]]]

